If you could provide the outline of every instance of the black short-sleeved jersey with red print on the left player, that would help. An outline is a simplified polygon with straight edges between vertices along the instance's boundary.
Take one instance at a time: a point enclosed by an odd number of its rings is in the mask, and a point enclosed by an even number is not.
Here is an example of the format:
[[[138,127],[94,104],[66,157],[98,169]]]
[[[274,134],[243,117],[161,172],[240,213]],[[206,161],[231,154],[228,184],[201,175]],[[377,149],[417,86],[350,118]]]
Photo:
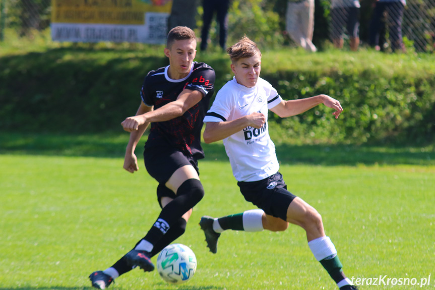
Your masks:
[[[151,131],[145,148],[175,147],[185,155],[195,159],[204,158],[201,147],[201,129],[205,112],[209,108],[214,92],[215,72],[205,63],[193,63],[189,75],[183,79],[172,80],[168,77],[169,67],[151,71],[145,77],[141,90],[142,101],[154,109],[175,101],[184,89],[203,93],[203,99],[180,117],[165,122],[151,123]]]

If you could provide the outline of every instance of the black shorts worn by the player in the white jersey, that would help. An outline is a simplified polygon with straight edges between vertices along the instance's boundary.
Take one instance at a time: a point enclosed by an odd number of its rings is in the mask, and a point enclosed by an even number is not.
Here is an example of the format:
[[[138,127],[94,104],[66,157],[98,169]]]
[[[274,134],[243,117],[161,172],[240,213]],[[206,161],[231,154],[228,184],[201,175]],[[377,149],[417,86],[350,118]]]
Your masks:
[[[246,201],[252,202],[266,214],[287,220],[287,209],[296,197],[287,190],[281,173],[260,181],[238,182],[240,192]]]

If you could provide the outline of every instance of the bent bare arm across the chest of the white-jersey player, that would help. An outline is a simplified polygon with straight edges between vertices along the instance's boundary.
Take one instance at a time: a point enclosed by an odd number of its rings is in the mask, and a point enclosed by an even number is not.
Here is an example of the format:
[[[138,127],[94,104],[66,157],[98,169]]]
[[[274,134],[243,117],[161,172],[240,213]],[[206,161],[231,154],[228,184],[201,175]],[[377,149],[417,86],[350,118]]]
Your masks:
[[[263,113],[253,112],[242,118],[225,122],[207,122],[203,139],[205,143],[212,143],[225,139],[248,126],[260,129],[266,122]]]

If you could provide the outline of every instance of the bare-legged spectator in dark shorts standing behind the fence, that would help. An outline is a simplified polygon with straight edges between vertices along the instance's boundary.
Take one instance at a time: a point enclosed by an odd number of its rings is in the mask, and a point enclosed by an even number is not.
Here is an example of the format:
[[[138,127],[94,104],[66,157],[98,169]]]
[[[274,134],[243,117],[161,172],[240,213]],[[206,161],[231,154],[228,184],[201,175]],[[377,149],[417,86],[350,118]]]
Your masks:
[[[331,36],[336,48],[343,48],[343,28],[346,26],[350,49],[353,51],[358,49],[360,7],[358,0],[332,0]]]

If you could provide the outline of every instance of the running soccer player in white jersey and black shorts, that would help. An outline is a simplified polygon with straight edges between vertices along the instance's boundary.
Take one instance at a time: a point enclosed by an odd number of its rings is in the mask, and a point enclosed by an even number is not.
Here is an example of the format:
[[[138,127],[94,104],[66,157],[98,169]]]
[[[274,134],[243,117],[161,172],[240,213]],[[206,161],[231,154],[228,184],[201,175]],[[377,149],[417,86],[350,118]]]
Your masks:
[[[306,231],[310,250],[339,289],[356,289],[343,273],[334,244],[325,235],[321,215],[287,190],[278,171],[275,145],[270,139],[267,123],[268,110],[285,118],[319,104],[333,108],[333,114],[338,118],[343,111],[340,102],[327,95],[283,100],[271,84],[259,77],[261,52],[247,37],[228,48],[227,52],[234,78],[219,90],[206,113],[204,141],[223,140],[240,192],[259,209],[220,218],[203,216],[200,226],[207,246],[216,253],[220,233],[226,229],[281,231],[293,223]]]

